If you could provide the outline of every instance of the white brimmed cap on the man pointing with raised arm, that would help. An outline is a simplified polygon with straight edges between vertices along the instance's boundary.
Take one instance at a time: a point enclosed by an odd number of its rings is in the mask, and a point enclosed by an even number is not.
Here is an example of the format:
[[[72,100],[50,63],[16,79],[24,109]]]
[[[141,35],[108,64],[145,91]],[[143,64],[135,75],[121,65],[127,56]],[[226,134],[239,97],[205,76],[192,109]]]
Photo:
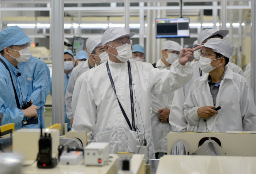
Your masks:
[[[106,43],[119,39],[121,37],[133,37],[136,33],[127,33],[125,29],[121,27],[113,27],[104,32],[101,42],[102,46],[106,45]]]

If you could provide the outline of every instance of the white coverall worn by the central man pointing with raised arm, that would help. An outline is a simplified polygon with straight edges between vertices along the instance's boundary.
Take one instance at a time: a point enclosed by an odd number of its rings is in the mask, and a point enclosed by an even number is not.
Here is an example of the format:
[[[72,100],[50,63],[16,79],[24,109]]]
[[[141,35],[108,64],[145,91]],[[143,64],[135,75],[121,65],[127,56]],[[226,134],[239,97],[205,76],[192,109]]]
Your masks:
[[[126,63],[113,63],[108,60],[117,97],[130,122],[131,99],[128,67]],[[150,103],[152,94],[172,92],[192,78],[190,63],[182,66],[175,61],[171,70],[160,71],[149,63],[130,60],[133,86],[135,127],[131,131],[126,122],[117,97],[109,80],[106,63],[92,69],[84,78],[75,111],[72,130],[87,131],[88,142],[108,142],[109,152],[135,152],[143,139],[147,141],[149,158],[155,158],[150,122]],[[175,80],[174,80],[175,79]],[[136,102],[137,101],[137,102]]]

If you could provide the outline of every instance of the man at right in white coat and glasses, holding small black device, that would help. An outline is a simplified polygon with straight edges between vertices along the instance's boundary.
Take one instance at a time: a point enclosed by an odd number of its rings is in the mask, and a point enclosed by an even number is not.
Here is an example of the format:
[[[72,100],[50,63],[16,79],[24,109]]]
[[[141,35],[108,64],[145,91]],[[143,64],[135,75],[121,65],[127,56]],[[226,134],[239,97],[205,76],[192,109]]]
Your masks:
[[[195,132],[256,131],[253,91],[243,76],[226,66],[234,46],[219,38],[201,46],[199,67],[205,75],[194,81],[184,103],[188,124],[197,126]]]

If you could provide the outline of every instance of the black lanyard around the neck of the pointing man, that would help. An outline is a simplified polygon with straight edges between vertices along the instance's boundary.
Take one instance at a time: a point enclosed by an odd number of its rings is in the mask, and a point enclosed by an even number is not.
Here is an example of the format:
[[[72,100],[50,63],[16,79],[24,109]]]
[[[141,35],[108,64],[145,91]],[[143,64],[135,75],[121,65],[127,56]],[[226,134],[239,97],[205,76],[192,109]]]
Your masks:
[[[109,75],[109,80],[110,80],[110,83],[111,83],[111,85],[112,85],[112,88],[113,88],[113,90],[114,90],[114,92],[115,92],[115,94],[116,94],[116,98],[117,98],[118,104],[119,104],[119,106],[120,106],[120,109],[121,109],[121,111],[122,111],[122,113],[123,113],[123,115],[124,115],[124,118],[125,118],[127,124],[129,125],[131,131],[132,131],[132,127],[133,127],[133,128],[135,129],[135,131],[136,131],[136,128],[135,128],[135,121],[134,121],[134,106],[133,106],[133,91],[132,91],[132,71],[131,71],[131,65],[130,65],[129,60],[127,61],[127,65],[128,65],[128,74],[129,74],[129,88],[130,88],[131,110],[132,110],[132,126],[131,126],[131,123],[130,123],[130,121],[129,121],[129,119],[128,119],[128,117],[127,117],[125,111],[124,111],[123,106],[121,105],[121,103],[120,103],[120,101],[119,101],[119,99],[118,99],[118,97],[117,97],[116,88],[115,88],[114,81],[113,81],[113,78],[112,78],[112,75],[111,75],[111,72],[110,72],[110,69],[109,69],[109,64],[108,64],[108,62],[106,63],[107,71],[108,71],[108,75]]]

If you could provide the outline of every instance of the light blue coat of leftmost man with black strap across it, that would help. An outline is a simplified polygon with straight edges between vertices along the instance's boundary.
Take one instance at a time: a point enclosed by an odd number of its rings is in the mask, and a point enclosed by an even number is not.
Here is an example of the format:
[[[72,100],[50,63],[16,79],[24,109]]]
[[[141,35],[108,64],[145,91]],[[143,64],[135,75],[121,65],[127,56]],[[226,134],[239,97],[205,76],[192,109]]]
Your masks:
[[[14,82],[14,86],[19,98],[20,107],[22,107],[22,97],[20,94],[20,90],[18,88],[18,78],[17,73],[19,72],[19,68],[15,68],[6,58],[0,55],[1,59],[5,62],[7,67],[10,69],[12,80]],[[0,113],[3,113],[3,122],[0,125],[5,125],[8,123],[15,124],[15,130],[22,128],[23,123],[22,120],[24,118],[24,113],[22,110],[18,109],[14,89],[12,87],[11,77],[8,70],[4,67],[4,65],[0,62]]]

